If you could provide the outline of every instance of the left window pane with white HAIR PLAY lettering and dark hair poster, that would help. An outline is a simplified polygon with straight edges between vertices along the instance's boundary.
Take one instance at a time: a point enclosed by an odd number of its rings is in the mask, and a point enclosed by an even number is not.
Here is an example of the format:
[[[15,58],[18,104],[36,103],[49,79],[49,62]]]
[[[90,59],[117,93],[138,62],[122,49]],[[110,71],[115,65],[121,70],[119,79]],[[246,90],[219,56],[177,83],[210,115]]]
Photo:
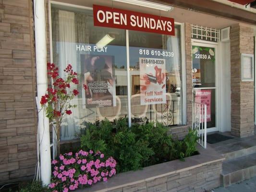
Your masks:
[[[71,63],[80,82],[72,85],[80,92],[73,99],[78,107],[62,124],[61,140],[79,135],[83,121],[127,116],[125,31],[95,27],[92,11],[72,9],[60,5],[51,8],[53,62],[62,77]],[[85,91],[83,84],[88,86]]]

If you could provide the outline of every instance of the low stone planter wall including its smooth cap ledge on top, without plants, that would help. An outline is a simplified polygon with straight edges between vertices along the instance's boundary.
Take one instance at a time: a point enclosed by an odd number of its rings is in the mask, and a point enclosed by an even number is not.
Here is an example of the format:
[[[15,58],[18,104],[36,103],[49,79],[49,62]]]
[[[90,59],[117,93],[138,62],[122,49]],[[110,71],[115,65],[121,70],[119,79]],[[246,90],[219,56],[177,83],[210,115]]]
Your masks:
[[[199,155],[142,170],[128,171],[76,192],[208,192],[220,186],[222,161],[213,148],[197,146]]]

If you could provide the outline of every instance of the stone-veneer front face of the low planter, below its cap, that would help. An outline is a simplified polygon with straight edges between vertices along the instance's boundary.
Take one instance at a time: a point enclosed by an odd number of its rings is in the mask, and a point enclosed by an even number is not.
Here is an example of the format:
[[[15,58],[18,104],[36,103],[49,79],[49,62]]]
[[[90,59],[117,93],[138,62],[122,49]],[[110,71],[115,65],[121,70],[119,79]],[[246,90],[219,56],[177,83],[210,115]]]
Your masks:
[[[107,192],[208,192],[220,186],[222,161],[197,168],[172,173],[152,180],[106,189]],[[114,178],[113,178],[114,179]],[[78,192],[105,192],[106,190],[84,189]]]

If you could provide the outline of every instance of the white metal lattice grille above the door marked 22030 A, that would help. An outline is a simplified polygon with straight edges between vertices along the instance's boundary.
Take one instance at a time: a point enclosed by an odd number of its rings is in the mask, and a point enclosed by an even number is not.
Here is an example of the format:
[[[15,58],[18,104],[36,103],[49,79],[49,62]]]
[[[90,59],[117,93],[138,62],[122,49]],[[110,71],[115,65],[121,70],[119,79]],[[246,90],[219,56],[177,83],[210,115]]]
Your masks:
[[[205,41],[219,41],[219,29],[198,26],[197,24],[192,24],[191,26],[191,37],[193,39],[200,39]]]

